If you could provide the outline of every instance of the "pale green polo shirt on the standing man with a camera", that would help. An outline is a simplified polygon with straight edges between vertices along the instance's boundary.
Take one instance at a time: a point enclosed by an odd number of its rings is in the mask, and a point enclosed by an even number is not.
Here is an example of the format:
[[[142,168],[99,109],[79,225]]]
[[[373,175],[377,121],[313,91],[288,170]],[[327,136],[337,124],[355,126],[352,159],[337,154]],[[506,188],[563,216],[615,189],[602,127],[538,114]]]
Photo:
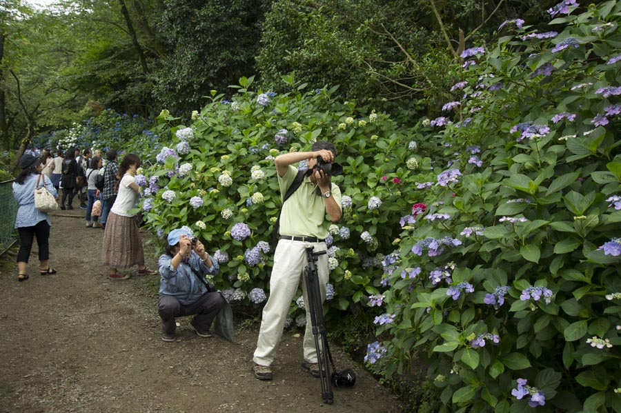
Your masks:
[[[289,165],[284,177],[278,177],[280,186],[280,200],[297,176],[297,168]],[[311,182],[310,177],[304,177],[302,185],[297,188],[293,195],[282,205],[280,214],[280,234],[315,236],[318,239],[326,239],[326,199],[318,197],[315,192],[317,184]],[[341,190],[338,185],[332,183],[332,196],[339,208],[341,208]]]

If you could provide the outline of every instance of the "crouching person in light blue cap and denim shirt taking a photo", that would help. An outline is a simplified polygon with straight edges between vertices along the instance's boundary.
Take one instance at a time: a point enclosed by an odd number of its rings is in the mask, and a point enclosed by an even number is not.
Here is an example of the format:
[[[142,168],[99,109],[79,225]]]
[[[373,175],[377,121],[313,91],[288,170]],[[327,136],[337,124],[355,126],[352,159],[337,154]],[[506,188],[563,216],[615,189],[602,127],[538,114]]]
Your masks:
[[[210,292],[206,274],[219,272],[218,261],[205,252],[204,245],[192,243],[183,228],[168,234],[166,254],[159,257],[159,316],[164,341],[175,341],[175,317],[196,314],[190,329],[201,337],[210,337],[210,327],[224,305],[219,292]]]

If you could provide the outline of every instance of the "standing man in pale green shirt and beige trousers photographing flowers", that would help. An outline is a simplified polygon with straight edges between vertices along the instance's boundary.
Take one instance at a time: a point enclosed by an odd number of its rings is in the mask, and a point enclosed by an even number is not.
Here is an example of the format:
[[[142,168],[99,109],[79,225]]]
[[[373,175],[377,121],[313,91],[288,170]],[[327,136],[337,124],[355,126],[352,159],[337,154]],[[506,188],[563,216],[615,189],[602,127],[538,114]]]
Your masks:
[[[332,183],[332,178],[324,168],[331,164],[333,174],[340,173],[340,165],[333,161],[337,150],[327,141],[313,144],[312,152],[290,152],[276,157],[275,165],[281,197],[284,199],[292,185],[299,188],[290,194],[283,205],[279,218],[279,241],[274,254],[274,266],[270,276],[270,296],[263,309],[261,328],[257,349],[253,357],[253,372],[259,380],[271,380],[274,350],[282,337],[284,323],[289,305],[295,296],[297,287],[302,281],[304,302],[308,303],[306,284],[304,283],[304,267],[307,264],[306,246],[312,245],[315,251],[325,251],[324,239],[328,236],[326,229],[326,213],[330,221],[341,219],[341,191]],[[317,159],[321,157],[318,165]],[[292,164],[306,160],[308,172],[301,183],[297,179],[297,168]],[[317,257],[317,276],[322,303],[326,300],[326,284],[328,283],[328,255]],[[319,376],[317,350],[308,306],[306,306],[306,332],[304,333],[304,359],[302,367],[309,370],[315,377]]]

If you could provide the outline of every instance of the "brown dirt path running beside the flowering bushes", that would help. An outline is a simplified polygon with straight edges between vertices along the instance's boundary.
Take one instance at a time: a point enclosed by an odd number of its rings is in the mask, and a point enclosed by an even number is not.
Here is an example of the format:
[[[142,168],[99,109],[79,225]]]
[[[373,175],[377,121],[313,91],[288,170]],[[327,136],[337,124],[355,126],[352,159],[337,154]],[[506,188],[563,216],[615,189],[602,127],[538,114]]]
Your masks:
[[[35,275],[34,252],[28,281],[17,282],[14,264],[0,272],[1,413],[398,411],[395,398],[337,348],[337,367],[353,368],[357,383],[336,389],[334,405],[322,405],[319,381],[299,367],[302,338],[295,334],[284,334],[270,382],[250,372],[256,324],[237,323],[229,343],[190,334],[188,319],[179,319],[177,341],[164,343],[158,278],[134,269],[132,279],[111,281],[99,265],[101,229],[63,215],[52,217],[50,236],[50,264],[59,274]],[[146,255],[155,268],[155,256]]]

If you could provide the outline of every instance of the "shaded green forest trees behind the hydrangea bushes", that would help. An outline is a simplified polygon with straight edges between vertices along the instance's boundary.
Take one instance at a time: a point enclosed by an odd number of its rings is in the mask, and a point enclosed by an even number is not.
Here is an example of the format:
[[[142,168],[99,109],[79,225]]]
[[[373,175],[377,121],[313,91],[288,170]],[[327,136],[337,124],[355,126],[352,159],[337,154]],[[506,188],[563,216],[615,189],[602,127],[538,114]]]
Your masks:
[[[0,5],[0,150],[110,108],[181,118],[211,90],[255,75],[264,91],[295,72],[342,99],[373,100],[407,121],[440,111],[464,47],[502,21],[546,20],[555,1],[64,0]],[[449,99],[451,100],[451,99]]]

